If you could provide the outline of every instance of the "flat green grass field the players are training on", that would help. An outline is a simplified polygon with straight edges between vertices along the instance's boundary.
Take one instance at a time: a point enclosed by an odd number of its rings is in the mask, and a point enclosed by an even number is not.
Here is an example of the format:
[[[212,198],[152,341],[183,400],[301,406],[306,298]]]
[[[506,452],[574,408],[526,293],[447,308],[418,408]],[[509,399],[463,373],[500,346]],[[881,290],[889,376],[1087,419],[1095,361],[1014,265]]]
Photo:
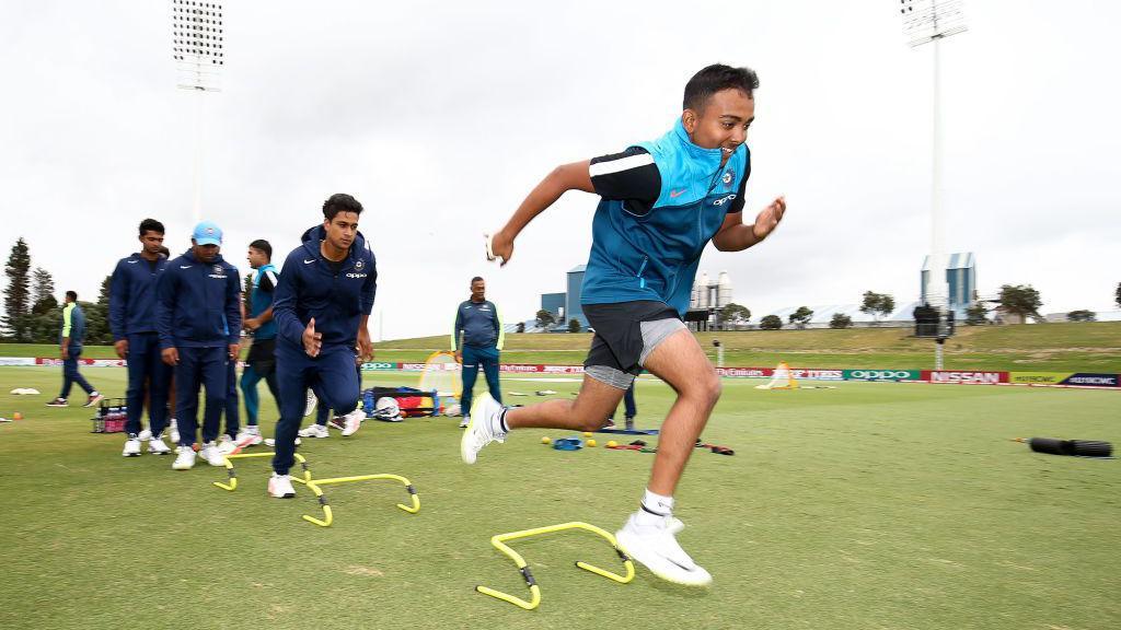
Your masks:
[[[123,392],[123,370],[84,372]],[[318,512],[303,488],[266,498],[265,460],[240,463],[242,487],[225,492],[211,485],[222,469],[121,457],[121,434],[87,433],[90,410],[43,407],[58,379],[57,368],[0,368],[0,416],[25,415],[0,424],[4,629],[1121,627],[1121,465],[1009,441],[1121,443],[1117,391],[725,380],[704,438],[735,456],[698,450],[677,493],[688,525],[678,538],[714,585],[683,589],[642,568],[615,584],[573,566],[617,566],[605,545],[557,534],[512,544],[541,585],[527,612],[473,591],[526,594],[490,536],[568,520],[613,531],[654,455],[558,452],[540,444],[548,432],[526,430],[469,467],[453,419],[369,421],[300,452],[321,478],[404,474],[423,508],[395,508],[407,495],[391,483],[331,487],[324,529],[300,519]],[[576,386],[503,379],[506,391],[562,397]],[[670,401],[642,382],[639,424],[656,426]]]

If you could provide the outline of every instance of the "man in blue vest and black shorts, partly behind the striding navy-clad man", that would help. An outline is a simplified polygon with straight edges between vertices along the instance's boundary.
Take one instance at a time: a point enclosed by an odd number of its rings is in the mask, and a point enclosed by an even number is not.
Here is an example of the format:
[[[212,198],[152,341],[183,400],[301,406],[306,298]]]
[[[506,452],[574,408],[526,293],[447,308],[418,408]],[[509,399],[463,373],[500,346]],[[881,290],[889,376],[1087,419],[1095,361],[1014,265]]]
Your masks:
[[[238,436],[238,444],[253,446],[261,443],[261,429],[258,426],[261,399],[257,393],[257,383],[265,380],[274,400],[280,406],[280,389],[277,386],[276,349],[277,325],[272,321],[272,297],[276,294],[277,268],[272,266],[272,245],[258,239],[249,243],[245,256],[249,267],[253,270],[252,287],[249,291],[249,317],[243,326],[253,335],[249,346],[245,370],[241,372],[241,396],[245,400],[245,427]]]

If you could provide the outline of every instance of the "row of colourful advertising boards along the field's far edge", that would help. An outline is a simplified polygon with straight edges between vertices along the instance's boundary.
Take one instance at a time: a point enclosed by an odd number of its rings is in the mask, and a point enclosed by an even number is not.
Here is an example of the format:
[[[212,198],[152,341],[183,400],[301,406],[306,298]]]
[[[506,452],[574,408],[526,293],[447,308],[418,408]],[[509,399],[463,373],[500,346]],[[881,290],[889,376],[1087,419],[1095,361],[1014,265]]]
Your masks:
[[[89,368],[123,368],[122,359],[78,359]],[[0,367],[11,365],[62,365],[62,359],[53,356],[0,356]],[[363,363],[363,371],[419,372],[424,363],[396,363],[376,361]],[[456,363],[442,363],[438,369],[458,371]],[[583,365],[545,365],[538,363],[503,363],[500,368],[507,374],[583,374]],[[769,379],[773,368],[716,368],[716,373],[729,379]],[[926,382],[934,385],[1008,385],[1026,387],[1113,388],[1121,390],[1121,374],[1101,372],[997,372],[972,370],[897,370],[888,368],[862,368],[856,370],[821,370],[814,368],[790,368],[790,373],[799,380],[810,381],[867,381],[867,382]]]

